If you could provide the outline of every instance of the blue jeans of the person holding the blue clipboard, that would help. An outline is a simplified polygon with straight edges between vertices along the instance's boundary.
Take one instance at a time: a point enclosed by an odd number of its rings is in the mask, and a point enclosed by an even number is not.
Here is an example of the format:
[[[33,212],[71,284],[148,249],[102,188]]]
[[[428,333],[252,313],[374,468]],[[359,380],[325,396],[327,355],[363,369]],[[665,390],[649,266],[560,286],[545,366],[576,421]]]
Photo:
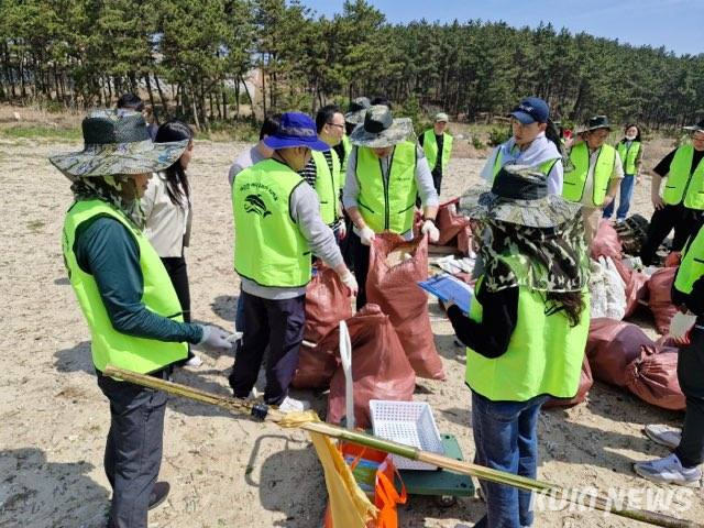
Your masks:
[[[472,392],[474,462],[494,470],[535,479],[538,466],[538,416],[548,396],[528,402],[492,402]],[[475,526],[520,528],[532,525],[531,493],[480,481],[486,516]]]

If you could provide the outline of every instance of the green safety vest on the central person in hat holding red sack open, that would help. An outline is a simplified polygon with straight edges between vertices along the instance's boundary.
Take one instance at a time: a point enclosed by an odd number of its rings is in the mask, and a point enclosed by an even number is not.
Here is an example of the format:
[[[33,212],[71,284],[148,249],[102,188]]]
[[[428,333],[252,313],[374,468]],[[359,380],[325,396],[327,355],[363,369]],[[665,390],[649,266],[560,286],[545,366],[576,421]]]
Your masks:
[[[416,144],[404,141],[394,146],[385,180],[382,161],[371,148],[356,150],[358,205],[364,222],[375,233],[405,233],[414,226],[416,212]]]

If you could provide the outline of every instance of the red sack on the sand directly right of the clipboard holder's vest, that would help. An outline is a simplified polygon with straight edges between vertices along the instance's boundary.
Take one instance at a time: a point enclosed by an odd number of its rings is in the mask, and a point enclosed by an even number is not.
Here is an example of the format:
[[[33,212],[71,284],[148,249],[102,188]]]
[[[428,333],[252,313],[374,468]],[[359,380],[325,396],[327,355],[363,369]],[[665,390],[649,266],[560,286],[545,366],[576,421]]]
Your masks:
[[[636,324],[607,318],[592,319],[586,340],[586,356],[592,375],[600,382],[623,387],[628,380],[626,366],[640,356],[652,340]]]

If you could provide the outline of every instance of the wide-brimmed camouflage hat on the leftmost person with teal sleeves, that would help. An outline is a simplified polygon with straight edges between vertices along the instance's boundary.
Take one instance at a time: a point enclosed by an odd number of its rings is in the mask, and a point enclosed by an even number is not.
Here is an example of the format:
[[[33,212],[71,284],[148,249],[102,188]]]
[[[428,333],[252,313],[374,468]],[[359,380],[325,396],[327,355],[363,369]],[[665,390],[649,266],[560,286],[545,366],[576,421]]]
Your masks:
[[[153,143],[141,113],[97,110],[82,121],[84,150],[48,161],[72,182],[77,178],[163,170],[176,162],[189,140]]]

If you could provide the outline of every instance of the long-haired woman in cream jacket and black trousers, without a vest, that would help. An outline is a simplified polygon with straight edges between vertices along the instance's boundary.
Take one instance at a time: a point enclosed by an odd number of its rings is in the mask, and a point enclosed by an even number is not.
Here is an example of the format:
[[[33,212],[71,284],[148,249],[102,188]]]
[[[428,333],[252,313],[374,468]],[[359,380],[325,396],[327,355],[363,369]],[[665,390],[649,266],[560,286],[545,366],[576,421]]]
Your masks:
[[[190,288],[184,248],[190,238],[193,201],[186,169],[194,153],[194,133],[183,121],[172,120],[156,131],[154,143],[187,141],[188,146],[172,165],[155,173],[142,198],[144,234],[162,258],[178,295],[184,321],[190,322]],[[199,366],[202,360],[188,350],[183,364]]]

